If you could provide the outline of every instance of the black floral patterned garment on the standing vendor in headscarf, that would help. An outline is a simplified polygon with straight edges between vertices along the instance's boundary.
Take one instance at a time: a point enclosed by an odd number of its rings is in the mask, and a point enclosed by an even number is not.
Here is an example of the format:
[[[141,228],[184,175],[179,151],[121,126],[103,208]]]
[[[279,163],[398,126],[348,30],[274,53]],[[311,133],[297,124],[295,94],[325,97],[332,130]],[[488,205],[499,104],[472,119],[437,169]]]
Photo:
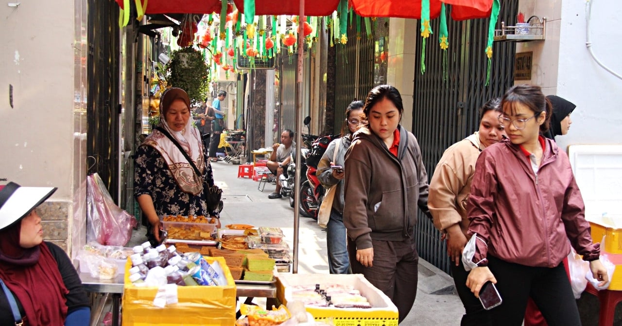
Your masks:
[[[214,185],[211,165],[206,159],[207,168],[203,169],[203,180]],[[170,173],[164,158],[152,146],[139,146],[134,164],[134,197],[149,194],[160,218],[165,215],[181,216],[218,216],[216,212],[207,212],[204,192],[197,195],[183,192]]]

